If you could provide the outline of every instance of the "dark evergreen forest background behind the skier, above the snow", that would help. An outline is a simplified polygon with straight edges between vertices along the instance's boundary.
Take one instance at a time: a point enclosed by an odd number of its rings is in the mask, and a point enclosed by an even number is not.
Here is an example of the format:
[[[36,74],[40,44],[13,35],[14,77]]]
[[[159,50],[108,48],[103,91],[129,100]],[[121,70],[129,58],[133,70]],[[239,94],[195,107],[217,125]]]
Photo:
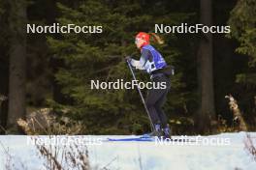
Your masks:
[[[136,89],[90,89],[90,81],[132,80],[125,57],[140,58],[136,34],[181,23],[231,32],[157,33],[165,43],[153,45],[176,71],[164,105],[173,134],[255,131],[255,15],[256,0],[0,0],[0,133],[149,131]],[[27,33],[27,24],[56,23],[91,27]]]

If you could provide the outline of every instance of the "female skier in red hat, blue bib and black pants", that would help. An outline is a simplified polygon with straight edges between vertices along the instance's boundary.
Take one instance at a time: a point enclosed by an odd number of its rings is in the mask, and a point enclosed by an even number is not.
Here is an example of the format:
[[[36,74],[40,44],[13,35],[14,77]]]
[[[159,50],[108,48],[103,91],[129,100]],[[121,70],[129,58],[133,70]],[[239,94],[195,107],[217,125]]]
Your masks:
[[[174,74],[174,70],[173,67],[167,65],[162,55],[150,44],[150,36],[152,36],[155,42],[163,43],[156,34],[140,32],[136,36],[135,43],[141,50],[141,58],[138,61],[131,57],[126,57],[126,60],[132,67],[149,73],[153,83],[166,83],[166,88],[164,89],[155,88],[148,90],[145,105],[154,126],[154,131],[150,135],[169,138],[171,137],[171,130],[167,123],[166,114],[161,107],[165,103],[171,88],[170,76]]]

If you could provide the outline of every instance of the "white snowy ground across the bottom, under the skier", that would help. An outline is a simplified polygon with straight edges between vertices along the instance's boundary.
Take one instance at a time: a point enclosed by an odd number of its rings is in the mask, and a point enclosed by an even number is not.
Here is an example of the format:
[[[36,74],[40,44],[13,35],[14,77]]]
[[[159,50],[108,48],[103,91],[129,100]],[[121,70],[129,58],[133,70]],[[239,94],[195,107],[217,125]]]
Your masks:
[[[256,132],[250,133],[256,144]],[[65,136],[58,136],[58,139]],[[90,164],[94,169],[111,170],[255,170],[256,161],[244,149],[245,133],[222,133],[198,137],[197,142],[107,142],[107,137],[131,136],[73,136],[87,142]],[[196,136],[191,136],[195,138]],[[40,136],[48,139],[48,136]],[[22,135],[0,136],[0,170],[4,170],[9,150],[18,164],[29,170],[44,169],[31,138]]]

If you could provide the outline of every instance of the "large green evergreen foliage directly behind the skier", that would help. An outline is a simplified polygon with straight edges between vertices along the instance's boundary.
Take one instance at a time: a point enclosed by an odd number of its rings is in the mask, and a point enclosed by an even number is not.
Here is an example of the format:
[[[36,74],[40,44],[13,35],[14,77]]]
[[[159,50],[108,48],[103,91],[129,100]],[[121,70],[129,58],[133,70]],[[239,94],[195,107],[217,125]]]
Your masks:
[[[102,25],[102,34],[62,34],[48,37],[48,44],[54,57],[63,61],[55,77],[62,86],[62,93],[69,103],[69,114],[74,119],[84,121],[88,133],[131,133],[148,129],[148,121],[137,90],[91,90],[90,80],[131,81],[132,76],[124,62],[124,57],[134,54],[139,59],[134,37],[138,31],[153,32],[154,23],[179,23],[188,14],[173,14],[163,7],[155,9],[157,3],[146,6],[142,2],[132,5],[127,1],[84,1],[77,7],[69,8],[58,3],[62,25]],[[146,9],[146,10],[144,10]],[[152,14],[157,15],[153,17]],[[176,36],[164,36],[165,45],[154,44],[168,63],[178,67],[180,51]],[[175,105],[184,103],[185,95],[180,94],[184,87],[182,72],[177,70],[173,78],[173,94],[169,98],[167,110],[174,111]],[[147,75],[138,74],[141,80],[148,81]],[[145,95],[145,94],[144,94]],[[70,104],[72,103],[72,104]],[[172,110],[173,109],[173,110]]]

